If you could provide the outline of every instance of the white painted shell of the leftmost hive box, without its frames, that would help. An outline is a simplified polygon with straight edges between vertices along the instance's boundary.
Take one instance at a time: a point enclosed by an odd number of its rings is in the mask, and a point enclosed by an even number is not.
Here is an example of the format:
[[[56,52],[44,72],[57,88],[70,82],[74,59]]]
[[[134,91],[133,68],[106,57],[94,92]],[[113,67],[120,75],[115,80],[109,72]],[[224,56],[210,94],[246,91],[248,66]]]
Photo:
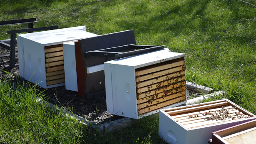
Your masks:
[[[18,55],[19,63],[21,63],[19,66],[20,77],[43,88],[64,85],[65,83],[47,86],[44,47],[94,36],[97,35],[85,31],[85,26],[18,35]],[[75,56],[71,57],[74,58]]]

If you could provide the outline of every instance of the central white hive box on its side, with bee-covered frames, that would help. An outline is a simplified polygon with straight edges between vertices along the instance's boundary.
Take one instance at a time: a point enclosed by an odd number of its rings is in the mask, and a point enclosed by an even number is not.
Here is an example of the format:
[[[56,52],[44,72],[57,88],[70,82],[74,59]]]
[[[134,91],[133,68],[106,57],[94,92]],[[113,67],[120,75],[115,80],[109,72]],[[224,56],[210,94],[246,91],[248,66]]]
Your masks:
[[[168,48],[104,62],[107,111],[139,119],[186,103],[185,54]]]

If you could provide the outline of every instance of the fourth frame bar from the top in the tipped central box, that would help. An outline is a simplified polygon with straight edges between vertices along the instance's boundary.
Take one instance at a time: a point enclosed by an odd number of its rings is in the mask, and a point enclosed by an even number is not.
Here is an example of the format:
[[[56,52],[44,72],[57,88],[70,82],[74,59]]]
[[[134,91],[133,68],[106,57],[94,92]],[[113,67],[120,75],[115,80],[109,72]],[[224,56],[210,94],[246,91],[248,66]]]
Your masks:
[[[175,84],[176,82],[181,82],[181,81],[183,82],[184,80],[186,80],[185,75],[181,78],[171,79],[168,81],[163,81],[163,82],[159,82],[156,84],[152,84],[152,85],[149,85],[146,87],[141,87],[140,89],[137,89],[137,93],[143,93],[143,92],[149,91],[149,89],[150,90],[159,89],[159,87],[162,87],[162,88],[169,87],[169,86],[172,86],[173,84]]]

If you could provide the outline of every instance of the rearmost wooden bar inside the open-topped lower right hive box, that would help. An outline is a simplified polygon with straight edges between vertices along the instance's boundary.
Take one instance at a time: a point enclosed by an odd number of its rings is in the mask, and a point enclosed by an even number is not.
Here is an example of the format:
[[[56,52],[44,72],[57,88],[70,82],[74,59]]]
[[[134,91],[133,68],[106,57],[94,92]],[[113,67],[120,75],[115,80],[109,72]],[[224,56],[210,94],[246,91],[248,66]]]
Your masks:
[[[221,106],[225,106],[226,104],[228,104],[228,102],[219,102],[216,104],[207,104],[207,105],[198,105],[197,107],[191,107],[191,108],[187,108],[187,109],[178,109],[175,111],[171,111],[168,112],[168,114],[172,115],[172,114],[178,114],[178,113],[184,113],[184,112],[191,112],[191,111],[198,111],[198,110],[203,110],[203,109],[208,109],[211,107],[221,107]]]

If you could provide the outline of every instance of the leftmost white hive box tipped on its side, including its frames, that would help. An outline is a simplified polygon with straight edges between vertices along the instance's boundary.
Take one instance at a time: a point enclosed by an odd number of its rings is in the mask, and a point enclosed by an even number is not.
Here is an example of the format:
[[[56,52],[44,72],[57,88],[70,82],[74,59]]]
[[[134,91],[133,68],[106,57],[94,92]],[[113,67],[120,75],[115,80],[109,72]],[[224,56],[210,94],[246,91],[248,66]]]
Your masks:
[[[63,42],[94,36],[85,26],[17,35],[20,77],[43,88],[64,85]]]

